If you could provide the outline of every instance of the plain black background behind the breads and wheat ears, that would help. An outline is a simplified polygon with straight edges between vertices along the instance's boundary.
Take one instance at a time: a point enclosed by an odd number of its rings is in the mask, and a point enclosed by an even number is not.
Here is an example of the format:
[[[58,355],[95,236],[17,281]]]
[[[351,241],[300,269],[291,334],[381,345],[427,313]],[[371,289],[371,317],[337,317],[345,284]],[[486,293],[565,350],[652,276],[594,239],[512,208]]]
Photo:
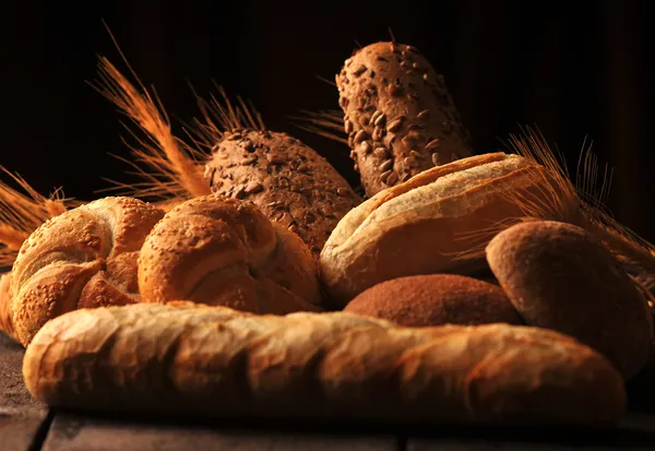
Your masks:
[[[97,54],[133,69],[166,110],[198,115],[215,80],[254,103],[267,127],[297,135],[355,180],[347,149],[295,128],[288,115],[335,109],[334,80],[355,40],[418,47],[444,74],[477,153],[537,126],[575,169],[585,137],[615,168],[609,207],[655,240],[654,15],[648,1],[26,1],[4,3],[0,165],[44,193],[88,200],[129,180],[114,106],[86,83]],[[178,124],[179,122],[174,122]]]

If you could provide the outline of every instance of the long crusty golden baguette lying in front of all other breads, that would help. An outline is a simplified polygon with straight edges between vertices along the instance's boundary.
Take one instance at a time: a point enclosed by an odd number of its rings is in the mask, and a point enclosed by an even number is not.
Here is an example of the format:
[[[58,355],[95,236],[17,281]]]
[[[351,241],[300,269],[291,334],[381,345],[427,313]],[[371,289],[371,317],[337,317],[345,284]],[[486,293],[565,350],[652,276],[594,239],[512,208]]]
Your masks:
[[[622,379],[557,332],[400,328],[344,313],[286,317],[188,302],[76,310],[27,347],[34,397],[103,411],[412,423],[611,424]]]

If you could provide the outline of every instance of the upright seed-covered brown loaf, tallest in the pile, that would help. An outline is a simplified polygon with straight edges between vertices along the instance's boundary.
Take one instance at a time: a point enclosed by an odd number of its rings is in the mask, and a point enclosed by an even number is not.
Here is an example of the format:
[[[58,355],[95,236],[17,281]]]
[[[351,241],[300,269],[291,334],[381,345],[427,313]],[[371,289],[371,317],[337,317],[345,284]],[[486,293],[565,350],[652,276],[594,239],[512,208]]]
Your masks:
[[[443,76],[415,47],[364,47],[345,61],[336,85],[368,197],[473,154]]]

